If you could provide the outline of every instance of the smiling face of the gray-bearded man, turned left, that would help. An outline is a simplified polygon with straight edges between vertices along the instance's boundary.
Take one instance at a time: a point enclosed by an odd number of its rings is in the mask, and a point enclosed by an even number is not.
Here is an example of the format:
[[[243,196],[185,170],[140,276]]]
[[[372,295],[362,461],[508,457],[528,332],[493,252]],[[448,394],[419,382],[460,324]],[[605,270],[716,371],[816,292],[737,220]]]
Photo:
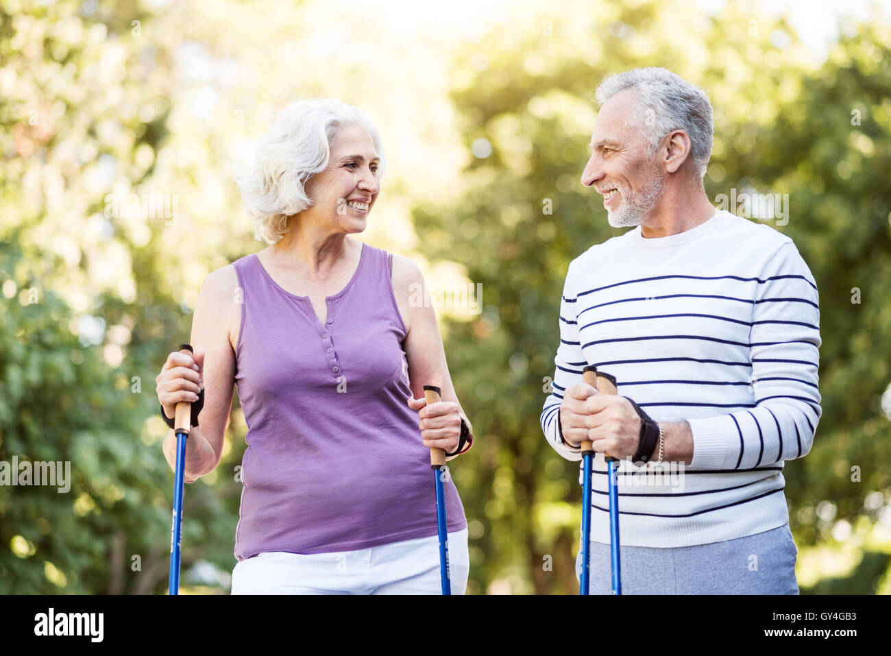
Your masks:
[[[582,184],[603,194],[603,207],[613,227],[646,221],[666,186],[666,170],[654,160],[644,126],[635,126],[637,102],[637,95],[628,90],[603,103],[594,120],[591,159],[582,173]]]

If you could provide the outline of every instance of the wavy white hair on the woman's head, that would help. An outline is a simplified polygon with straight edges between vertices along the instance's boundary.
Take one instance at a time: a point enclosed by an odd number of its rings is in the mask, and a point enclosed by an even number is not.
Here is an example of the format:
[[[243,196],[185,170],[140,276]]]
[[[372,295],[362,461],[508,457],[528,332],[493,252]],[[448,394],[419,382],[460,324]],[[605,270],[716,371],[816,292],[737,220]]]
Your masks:
[[[288,219],[307,209],[312,201],[306,184],[328,166],[331,141],[344,127],[363,127],[385,158],[380,134],[372,120],[356,107],[334,98],[292,102],[275,119],[257,143],[257,159],[245,178],[237,180],[241,206],[254,219],[254,238],[273,244],[288,231]]]

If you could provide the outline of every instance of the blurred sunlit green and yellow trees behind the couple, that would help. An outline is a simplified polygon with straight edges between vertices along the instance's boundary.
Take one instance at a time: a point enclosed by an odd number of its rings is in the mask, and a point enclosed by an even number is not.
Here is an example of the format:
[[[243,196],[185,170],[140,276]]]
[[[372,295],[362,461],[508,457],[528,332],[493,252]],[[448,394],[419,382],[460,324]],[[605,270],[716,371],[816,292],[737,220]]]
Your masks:
[[[647,65],[712,100],[709,198],[789,194],[767,222],[819,286],[823,416],[785,470],[802,593],[891,591],[887,6],[430,6],[0,1],[0,461],[71,463],[68,493],[0,487],[0,593],[166,591],[155,377],[205,276],[266,245],[234,184],[253,144],[333,96],[389,157],[361,239],[431,286],[481,283],[480,312],[437,308],[476,433],[452,467],[468,592],[576,594],[576,463],[538,418],[568,263],[623,232],[579,182],[593,90]],[[186,488],[184,592],[228,593],[245,431],[236,394],[222,462]]]

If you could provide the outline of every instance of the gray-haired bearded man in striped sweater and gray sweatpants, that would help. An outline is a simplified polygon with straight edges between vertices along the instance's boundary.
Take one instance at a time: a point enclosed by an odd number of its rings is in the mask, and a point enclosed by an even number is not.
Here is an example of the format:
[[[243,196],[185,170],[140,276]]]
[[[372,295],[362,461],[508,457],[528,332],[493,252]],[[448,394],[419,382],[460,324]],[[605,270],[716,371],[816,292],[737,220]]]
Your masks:
[[[591,594],[610,591],[603,453],[622,461],[625,594],[797,594],[782,471],[822,414],[813,275],[788,236],[708,201],[714,128],[699,88],[635,69],[597,100],[582,183],[609,225],[634,230],[569,265],[541,417],[563,457],[581,460],[583,439],[597,452]],[[615,376],[617,395],[584,384],[585,365]],[[680,475],[654,477],[658,463]]]

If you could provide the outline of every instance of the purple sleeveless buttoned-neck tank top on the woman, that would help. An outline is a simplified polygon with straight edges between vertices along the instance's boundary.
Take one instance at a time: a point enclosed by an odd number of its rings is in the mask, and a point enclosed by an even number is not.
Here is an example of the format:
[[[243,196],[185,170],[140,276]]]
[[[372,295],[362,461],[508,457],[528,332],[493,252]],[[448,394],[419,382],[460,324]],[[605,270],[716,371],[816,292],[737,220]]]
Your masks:
[[[363,244],[356,274],[327,298],[325,324],[256,254],[233,263],[243,299],[235,384],[248,424],[239,561],[437,535],[430,452],[406,403],[412,390],[392,260]],[[467,527],[451,480],[446,520],[449,531]]]

